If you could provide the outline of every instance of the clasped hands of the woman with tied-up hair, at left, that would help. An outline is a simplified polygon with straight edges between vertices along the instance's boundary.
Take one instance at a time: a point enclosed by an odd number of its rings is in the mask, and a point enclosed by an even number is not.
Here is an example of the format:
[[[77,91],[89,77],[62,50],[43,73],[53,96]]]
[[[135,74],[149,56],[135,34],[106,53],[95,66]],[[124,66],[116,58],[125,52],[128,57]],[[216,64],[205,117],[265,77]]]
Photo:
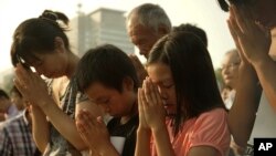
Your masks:
[[[25,70],[20,63],[15,67],[14,84],[24,100],[32,105],[43,107],[45,104],[53,103],[46,83],[38,73]]]

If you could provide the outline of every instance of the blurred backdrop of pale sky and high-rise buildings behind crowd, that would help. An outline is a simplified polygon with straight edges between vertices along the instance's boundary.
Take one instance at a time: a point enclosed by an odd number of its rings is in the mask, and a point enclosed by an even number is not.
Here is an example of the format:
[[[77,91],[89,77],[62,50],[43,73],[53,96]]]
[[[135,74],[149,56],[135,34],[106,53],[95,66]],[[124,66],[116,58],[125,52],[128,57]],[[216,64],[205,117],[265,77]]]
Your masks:
[[[0,87],[9,91],[11,86],[10,45],[12,33],[22,21],[39,17],[45,9],[61,11],[71,19],[67,35],[72,51],[79,56],[103,43],[139,55],[127,35],[125,17],[146,2],[162,7],[172,25],[191,23],[203,29],[213,65],[220,70],[222,56],[234,48],[234,42],[226,25],[227,13],[221,11],[216,0],[0,0]],[[142,56],[139,59],[145,62]]]

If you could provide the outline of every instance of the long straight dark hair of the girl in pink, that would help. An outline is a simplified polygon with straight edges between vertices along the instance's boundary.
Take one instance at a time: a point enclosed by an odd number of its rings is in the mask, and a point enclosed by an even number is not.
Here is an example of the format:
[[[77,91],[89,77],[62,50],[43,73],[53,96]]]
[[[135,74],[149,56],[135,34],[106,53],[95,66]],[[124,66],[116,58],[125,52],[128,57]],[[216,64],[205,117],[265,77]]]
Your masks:
[[[187,119],[215,107],[225,108],[211,56],[198,37],[188,32],[163,37],[152,48],[147,65],[158,62],[170,67],[176,85],[174,134]]]

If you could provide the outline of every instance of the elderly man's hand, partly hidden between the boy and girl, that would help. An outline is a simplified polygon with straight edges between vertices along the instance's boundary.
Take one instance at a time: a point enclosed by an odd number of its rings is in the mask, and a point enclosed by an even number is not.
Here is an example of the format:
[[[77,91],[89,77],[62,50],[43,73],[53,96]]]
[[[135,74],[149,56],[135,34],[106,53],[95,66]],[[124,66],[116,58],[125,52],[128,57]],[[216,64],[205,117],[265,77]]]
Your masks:
[[[135,65],[139,82],[141,83],[146,79],[146,76],[148,76],[148,73],[145,66],[141,64],[140,60],[137,58],[137,55],[130,54],[129,58],[131,59],[132,64]]]

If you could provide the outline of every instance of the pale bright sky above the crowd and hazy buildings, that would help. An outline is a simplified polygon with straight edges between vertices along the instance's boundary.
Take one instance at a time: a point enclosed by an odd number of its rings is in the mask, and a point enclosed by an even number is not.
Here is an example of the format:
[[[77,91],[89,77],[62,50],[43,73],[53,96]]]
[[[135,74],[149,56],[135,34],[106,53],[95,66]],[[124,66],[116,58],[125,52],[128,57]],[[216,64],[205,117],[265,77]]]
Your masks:
[[[83,12],[89,13],[100,7],[127,12],[146,2],[162,7],[172,25],[191,23],[205,30],[214,67],[220,66],[226,51],[235,48],[226,25],[229,14],[216,0],[0,0],[0,72],[12,67],[10,46],[18,24],[39,17],[45,9],[64,12],[72,19],[78,3]]]

